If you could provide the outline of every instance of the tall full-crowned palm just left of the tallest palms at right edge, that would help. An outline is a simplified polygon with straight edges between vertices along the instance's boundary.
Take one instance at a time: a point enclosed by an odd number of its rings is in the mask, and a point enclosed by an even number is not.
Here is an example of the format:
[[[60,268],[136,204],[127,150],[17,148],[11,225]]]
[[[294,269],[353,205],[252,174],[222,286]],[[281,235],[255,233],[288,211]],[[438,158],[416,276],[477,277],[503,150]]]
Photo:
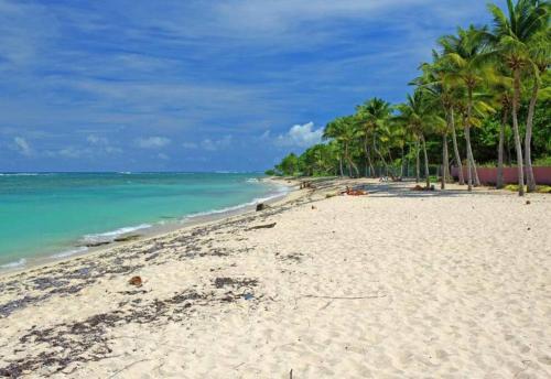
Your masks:
[[[471,127],[473,115],[473,96],[475,89],[485,79],[484,67],[487,62],[487,31],[486,28],[457,29],[457,35],[445,35],[439,43],[443,47],[444,58],[447,61],[449,78],[460,82],[466,88],[467,101],[464,117],[465,142],[467,145],[467,177],[468,191],[473,190],[473,173],[476,176],[476,163],[471,144]],[[477,181],[478,182],[478,181]],[[479,185],[479,183],[476,183]]]

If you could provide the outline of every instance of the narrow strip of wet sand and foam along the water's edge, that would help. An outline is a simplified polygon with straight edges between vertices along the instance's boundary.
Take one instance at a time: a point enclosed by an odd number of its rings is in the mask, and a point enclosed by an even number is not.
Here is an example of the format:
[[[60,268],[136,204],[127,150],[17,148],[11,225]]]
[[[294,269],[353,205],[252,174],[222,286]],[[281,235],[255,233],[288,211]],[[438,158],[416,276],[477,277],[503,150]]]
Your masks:
[[[161,223],[148,224],[149,226],[147,228],[138,228],[128,232],[122,232],[120,235],[117,235],[112,240],[109,240],[108,242],[98,245],[96,247],[82,246],[75,243],[73,246],[68,246],[67,250],[55,252],[48,256],[40,255],[34,257],[23,257],[17,261],[8,262],[6,264],[0,266],[0,279],[2,279],[6,275],[18,274],[37,268],[51,267],[52,264],[56,264],[75,258],[107,252],[111,249],[117,249],[119,247],[125,247],[128,245],[141,242],[151,238],[162,237],[172,234],[174,231],[193,228],[202,225],[207,225],[215,221],[222,221],[224,219],[228,219],[235,216],[240,216],[252,212],[256,208],[256,204],[258,203],[278,204],[279,202],[283,202],[293,192],[291,188],[295,186],[295,184],[290,184],[289,181],[282,183],[283,181],[279,181],[278,178],[273,177],[259,178],[259,182],[260,183],[268,182],[271,183],[272,185],[277,184],[280,187],[285,187],[285,190],[281,192],[281,194],[274,193],[270,195],[270,193],[267,193],[266,196],[268,197],[262,197],[258,201],[257,198],[255,198],[248,203],[238,204],[235,206],[227,207],[225,209],[213,209],[199,214],[191,214],[182,216],[181,219],[166,221],[163,224]],[[131,227],[121,227],[117,230],[123,228],[131,228]],[[105,234],[111,231],[107,231]],[[128,240],[125,240],[126,238],[128,238]],[[20,266],[19,262],[22,260],[24,262]],[[10,264],[14,266],[11,267]]]

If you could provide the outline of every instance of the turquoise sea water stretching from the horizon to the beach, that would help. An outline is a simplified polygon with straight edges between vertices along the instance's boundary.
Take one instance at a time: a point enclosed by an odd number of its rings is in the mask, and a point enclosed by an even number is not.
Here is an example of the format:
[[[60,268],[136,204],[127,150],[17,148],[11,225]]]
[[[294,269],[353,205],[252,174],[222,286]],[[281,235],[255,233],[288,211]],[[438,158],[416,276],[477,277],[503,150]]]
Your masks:
[[[256,174],[0,174],[0,269],[83,245],[238,207],[281,188]]]

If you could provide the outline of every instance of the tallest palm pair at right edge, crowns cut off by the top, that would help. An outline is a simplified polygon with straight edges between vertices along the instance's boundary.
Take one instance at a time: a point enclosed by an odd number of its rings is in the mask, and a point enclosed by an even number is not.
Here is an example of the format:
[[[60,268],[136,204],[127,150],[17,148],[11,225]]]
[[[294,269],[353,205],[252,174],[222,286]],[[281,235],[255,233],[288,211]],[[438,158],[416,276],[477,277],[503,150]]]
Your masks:
[[[540,67],[534,64],[540,61],[544,64],[544,69],[549,65],[549,9],[548,1],[539,0],[518,0],[516,4],[512,0],[507,0],[508,14],[495,6],[488,6],[489,11],[494,15],[494,43],[495,53],[512,72],[514,94],[511,102],[512,130],[515,134],[515,145],[517,149],[518,164],[518,184],[519,196],[525,194],[525,177],[522,167],[522,148],[520,143],[518,110],[520,106],[522,71],[531,68],[530,72],[534,78],[532,97],[528,112],[527,130],[525,138],[525,162],[527,164],[528,188],[536,190],[536,181],[533,178],[532,163],[530,158],[530,144],[532,134],[533,109],[538,98],[539,90],[539,72]],[[541,48],[543,54],[539,53]],[[540,59],[544,56],[543,59]]]

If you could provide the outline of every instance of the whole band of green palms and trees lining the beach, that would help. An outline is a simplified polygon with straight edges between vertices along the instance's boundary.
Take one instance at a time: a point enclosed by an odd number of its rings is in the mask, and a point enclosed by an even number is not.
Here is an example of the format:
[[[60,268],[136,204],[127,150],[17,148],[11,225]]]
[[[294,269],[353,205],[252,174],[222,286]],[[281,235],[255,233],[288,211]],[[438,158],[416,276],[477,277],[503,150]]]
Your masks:
[[[480,184],[477,165],[519,170],[536,192],[532,165],[551,164],[551,29],[549,1],[488,6],[491,26],[469,25],[439,39],[432,62],[419,66],[403,104],[372,98],[324,130],[324,143],[291,153],[269,174],[414,176],[445,187],[450,166],[467,166],[460,184]],[[533,160],[533,163],[532,163]],[[526,172],[526,182],[523,173]]]

